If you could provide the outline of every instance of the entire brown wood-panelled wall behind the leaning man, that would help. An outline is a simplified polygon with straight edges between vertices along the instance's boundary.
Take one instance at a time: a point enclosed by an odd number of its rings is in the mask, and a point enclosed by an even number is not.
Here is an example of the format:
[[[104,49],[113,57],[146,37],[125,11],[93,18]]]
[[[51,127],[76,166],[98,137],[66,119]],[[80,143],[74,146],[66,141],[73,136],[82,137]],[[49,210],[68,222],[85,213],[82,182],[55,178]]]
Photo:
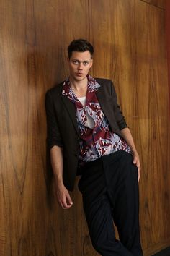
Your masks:
[[[144,255],[170,245],[164,8],[164,0],[0,1],[1,256],[97,256],[77,187],[73,208],[59,208],[45,163],[45,92],[68,75],[74,38],[94,44],[91,73],[114,80],[140,153]]]

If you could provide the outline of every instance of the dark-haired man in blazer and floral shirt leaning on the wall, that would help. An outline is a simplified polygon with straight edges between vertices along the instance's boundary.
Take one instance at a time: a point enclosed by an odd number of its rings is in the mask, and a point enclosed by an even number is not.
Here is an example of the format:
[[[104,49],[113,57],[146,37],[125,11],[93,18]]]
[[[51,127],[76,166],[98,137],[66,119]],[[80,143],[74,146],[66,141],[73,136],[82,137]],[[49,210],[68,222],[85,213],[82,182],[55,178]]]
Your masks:
[[[112,81],[89,75],[93,53],[88,41],[73,40],[68,46],[70,75],[46,95],[58,202],[71,208],[68,190],[81,174],[79,190],[94,248],[102,256],[139,256],[140,160]]]

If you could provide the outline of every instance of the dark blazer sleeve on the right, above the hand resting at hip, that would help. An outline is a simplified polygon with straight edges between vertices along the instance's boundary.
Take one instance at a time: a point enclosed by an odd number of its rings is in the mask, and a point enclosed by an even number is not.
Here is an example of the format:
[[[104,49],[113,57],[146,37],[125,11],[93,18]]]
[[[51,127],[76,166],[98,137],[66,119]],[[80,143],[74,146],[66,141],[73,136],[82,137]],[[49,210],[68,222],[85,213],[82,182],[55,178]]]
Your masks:
[[[117,125],[119,129],[124,129],[125,127],[128,127],[125,116],[123,116],[122,111],[120,110],[120,106],[117,103],[117,94],[115,91],[115,86],[113,85],[113,82],[111,81],[111,94],[113,98],[113,104],[114,104],[114,113],[115,113],[115,119],[117,121]]]

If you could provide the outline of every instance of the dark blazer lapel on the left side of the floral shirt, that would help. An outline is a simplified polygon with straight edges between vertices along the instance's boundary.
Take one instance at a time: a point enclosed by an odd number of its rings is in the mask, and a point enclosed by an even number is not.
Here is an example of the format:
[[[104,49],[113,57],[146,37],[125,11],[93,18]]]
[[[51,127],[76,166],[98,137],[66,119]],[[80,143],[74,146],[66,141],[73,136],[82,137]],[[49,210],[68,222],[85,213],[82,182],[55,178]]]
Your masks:
[[[68,100],[68,98],[66,96],[61,95],[61,98],[63,100],[64,106],[66,106],[68,115],[70,116],[71,121],[73,122],[73,127],[76,129],[76,133],[80,137],[77,120],[76,120],[75,106],[73,105],[73,103],[71,101]]]

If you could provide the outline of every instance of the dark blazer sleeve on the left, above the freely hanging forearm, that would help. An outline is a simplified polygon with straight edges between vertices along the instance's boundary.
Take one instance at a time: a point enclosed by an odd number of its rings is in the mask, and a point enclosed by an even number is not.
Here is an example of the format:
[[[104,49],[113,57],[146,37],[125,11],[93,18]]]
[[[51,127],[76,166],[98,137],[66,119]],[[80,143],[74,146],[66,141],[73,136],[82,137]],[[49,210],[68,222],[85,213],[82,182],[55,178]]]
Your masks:
[[[54,145],[63,146],[63,140],[58,127],[57,118],[53,104],[53,98],[48,91],[45,95],[45,110],[47,116],[47,145],[50,150]]]

